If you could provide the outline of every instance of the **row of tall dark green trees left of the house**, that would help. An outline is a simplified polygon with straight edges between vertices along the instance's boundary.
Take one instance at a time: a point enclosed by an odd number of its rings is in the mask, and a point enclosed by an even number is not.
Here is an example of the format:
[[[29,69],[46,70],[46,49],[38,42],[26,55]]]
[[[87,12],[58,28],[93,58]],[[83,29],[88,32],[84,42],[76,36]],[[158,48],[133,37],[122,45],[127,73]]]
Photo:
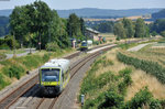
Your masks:
[[[15,7],[9,22],[10,34],[6,39],[15,40],[18,47],[65,48],[70,46],[72,37],[84,37],[82,19],[74,13],[62,19],[43,1]]]

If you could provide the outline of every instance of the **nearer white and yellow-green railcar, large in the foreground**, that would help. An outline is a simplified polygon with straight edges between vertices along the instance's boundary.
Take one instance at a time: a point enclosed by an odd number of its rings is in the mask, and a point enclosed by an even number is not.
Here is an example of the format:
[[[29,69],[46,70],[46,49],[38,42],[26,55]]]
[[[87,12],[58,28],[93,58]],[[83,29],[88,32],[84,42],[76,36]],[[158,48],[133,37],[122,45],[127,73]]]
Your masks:
[[[59,95],[70,79],[69,59],[51,59],[40,68],[41,95]]]

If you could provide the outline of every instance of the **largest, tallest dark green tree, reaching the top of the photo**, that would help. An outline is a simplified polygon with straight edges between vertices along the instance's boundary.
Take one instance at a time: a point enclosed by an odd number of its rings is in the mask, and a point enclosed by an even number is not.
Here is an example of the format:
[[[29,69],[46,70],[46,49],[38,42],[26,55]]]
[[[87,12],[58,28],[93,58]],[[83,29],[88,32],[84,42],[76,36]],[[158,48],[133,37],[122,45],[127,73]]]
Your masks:
[[[35,34],[35,45],[42,42],[42,48],[47,43],[48,26],[52,20],[52,11],[43,1],[35,1],[32,4],[15,7],[10,15],[11,31],[15,33],[15,39],[21,43],[30,43],[28,34]]]

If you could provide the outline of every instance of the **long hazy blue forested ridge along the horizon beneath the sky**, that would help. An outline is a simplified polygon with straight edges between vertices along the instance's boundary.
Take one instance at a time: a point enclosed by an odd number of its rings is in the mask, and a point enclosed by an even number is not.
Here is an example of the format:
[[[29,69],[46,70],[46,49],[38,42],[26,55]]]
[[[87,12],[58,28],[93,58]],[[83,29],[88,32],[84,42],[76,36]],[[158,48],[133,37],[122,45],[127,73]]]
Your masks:
[[[111,9],[97,9],[97,8],[84,8],[73,10],[57,10],[61,18],[68,18],[70,13],[76,13],[82,18],[122,18],[132,15],[145,15],[158,12],[162,9],[129,9],[129,10],[111,10]],[[0,10],[0,15],[9,17],[12,10]]]

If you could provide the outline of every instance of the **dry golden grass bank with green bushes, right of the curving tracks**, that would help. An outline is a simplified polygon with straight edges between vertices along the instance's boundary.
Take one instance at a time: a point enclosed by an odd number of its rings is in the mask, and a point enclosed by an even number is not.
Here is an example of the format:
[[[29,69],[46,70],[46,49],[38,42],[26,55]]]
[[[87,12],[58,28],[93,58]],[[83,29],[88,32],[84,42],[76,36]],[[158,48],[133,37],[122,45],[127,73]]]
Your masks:
[[[130,65],[119,62],[122,56],[118,52],[121,50],[117,50],[103,54],[88,70],[80,89],[80,94],[86,95],[84,108],[160,109],[165,107],[165,85],[147,70],[133,67],[133,63],[138,61],[132,61]]]

